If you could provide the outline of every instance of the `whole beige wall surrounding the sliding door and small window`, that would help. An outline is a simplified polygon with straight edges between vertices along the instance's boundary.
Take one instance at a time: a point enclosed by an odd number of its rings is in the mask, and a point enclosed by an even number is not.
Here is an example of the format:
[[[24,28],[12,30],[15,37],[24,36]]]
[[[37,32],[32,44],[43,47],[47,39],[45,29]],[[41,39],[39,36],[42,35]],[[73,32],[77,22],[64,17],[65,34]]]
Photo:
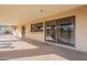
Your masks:
[[[87,52],[87,6],[79,7],[77,9],[73,9],[62,13],[44,17],[42,19],[37,19],[34,23],[45,22],[47,20],[53,20],[53,19],[66,18],[70,15],[76,15],[76,31],[75,31],[76,47],[75,48]],[[25,24],[25,28],[26,28],[25,36],[30,39],[39,40],[39,41],[44,41],[44,32],[32,33],[30,28],[31,23],[32,22],[29,22]]]

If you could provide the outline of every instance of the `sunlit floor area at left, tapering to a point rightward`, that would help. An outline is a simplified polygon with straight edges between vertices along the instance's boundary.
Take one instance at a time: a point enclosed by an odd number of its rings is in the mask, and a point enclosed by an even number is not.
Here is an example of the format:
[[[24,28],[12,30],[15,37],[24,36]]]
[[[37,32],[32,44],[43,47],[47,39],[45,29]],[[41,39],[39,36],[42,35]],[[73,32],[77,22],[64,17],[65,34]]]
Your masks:
[[[10,46],[6,48],[0,48],[0,51],[13,51],[13,50],[26,50],[26,48],[39,48],[39,46],[33,45],[32,43],[26,43],[24,41],[21,41],[19,39],[12,37],[12,36],[2,36],[3,39],[0,39],[0,44],[8,45],[10,43]]]

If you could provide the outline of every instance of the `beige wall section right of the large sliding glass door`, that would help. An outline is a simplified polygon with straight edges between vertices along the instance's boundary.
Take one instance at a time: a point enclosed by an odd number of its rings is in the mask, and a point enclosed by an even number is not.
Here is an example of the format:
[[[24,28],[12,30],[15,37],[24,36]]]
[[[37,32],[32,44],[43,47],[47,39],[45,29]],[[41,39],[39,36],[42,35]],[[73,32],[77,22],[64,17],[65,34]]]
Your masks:
[[[87,52],[87,7],[78,9],[76,17],[76,48]]]

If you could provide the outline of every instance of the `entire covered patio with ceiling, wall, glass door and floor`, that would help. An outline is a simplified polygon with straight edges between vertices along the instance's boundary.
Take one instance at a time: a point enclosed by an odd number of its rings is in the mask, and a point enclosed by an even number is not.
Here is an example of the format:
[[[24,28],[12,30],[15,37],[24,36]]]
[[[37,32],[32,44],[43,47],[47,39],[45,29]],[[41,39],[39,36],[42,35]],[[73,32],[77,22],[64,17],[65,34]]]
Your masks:
[[[86,28],[84,4],[2,4],[0,59],[87,61]]]

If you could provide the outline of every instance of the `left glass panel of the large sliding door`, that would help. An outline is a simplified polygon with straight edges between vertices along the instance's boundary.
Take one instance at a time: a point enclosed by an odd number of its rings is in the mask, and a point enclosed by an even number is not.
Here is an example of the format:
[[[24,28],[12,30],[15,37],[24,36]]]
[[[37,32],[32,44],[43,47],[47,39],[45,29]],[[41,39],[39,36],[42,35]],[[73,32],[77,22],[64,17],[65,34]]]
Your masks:
[[[53,43],[56,41],[56,26],[54,22],[45,23],[45,40]]]

